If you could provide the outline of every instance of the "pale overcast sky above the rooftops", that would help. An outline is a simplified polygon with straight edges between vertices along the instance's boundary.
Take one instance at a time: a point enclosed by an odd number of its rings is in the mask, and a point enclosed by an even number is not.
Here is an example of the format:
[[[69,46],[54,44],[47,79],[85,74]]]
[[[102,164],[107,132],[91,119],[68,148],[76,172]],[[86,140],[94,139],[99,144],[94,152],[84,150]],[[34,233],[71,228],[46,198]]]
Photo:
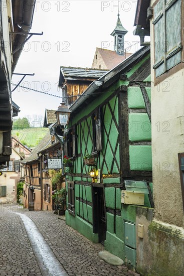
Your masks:
[[[125,48],[134,53],[139,37],[133,36],[137,1],[120,1],[119,14],[123,27],[128,30]],[[91,67],[96,47],[113,50],[110,36],[117,22],[117,1],[58,1],[38,0],[31,32],[25,44],[15,73],[35,73],[27,76],[22,85],[62,96],[58,88],[60,66]],[[130,46],[130,47],[129,47]],[[18,83],[20,76],[13,76]],[[44,116],[45,108],[57,109],[61,99],[18,88],[13,100],[20,106],[19,117],[38,114]],[[18,117],[16,117],[18,118]]]

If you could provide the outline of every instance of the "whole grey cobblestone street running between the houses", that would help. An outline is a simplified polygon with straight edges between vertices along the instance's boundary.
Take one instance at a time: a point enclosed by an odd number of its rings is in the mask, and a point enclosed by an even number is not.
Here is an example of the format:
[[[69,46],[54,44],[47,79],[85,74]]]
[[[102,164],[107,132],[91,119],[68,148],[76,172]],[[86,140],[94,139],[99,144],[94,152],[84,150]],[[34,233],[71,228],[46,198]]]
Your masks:
[[[103,250],[101,245],[92,243],[67,226],[65,221],[58,219],[58,215],[53,212],[29,212],[16,205],[0,205],[0,207],[0,275],[139,275],[124,265],[113,266],[103,261],[98,256],[98,252]],[[33,241],[27,234],[21,219],[22,214],[26,215],[25,218],[31,218],[38,227],[47,243],[47,246],[42,244],[44,254],[50,257],[50,253],[54,253],[59,265],[64,268],[63,274],[48,272],[43,267],[45,264],[41,264],[37,256],[37,239]],[[56,267],[54,259],[52,262]]]

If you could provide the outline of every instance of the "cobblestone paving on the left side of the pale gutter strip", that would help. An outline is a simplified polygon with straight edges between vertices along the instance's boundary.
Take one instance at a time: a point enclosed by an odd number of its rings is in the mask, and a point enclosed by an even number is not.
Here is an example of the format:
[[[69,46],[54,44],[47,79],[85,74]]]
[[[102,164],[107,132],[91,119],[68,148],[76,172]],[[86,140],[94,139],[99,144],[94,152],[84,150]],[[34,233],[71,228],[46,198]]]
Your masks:
[[[19,216],[0,205],[0,275],[41,275]]]

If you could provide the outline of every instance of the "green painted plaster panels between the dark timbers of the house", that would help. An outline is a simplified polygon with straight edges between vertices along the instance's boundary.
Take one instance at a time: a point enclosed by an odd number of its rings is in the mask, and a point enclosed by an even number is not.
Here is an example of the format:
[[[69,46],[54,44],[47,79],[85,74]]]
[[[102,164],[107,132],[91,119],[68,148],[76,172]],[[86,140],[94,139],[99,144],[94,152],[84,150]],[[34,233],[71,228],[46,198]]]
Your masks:
[[[136,69],[138,69],[141,64],[149,58],[149,55],[143,60],[139,61],[129,72],[127,72],[127,77],[130,77]],[[149,81],[149,78],[146,79]],[[89,174],[91,167],[83,165],[83,156],[88,153],[93,152],[93,137],[89,135],[89,131],[92,133],[92,120],[91,116],[88,117],[88,114],[93,112],[96,107],[101,105],[109,96],[114,93],[120,85],[128,85],[128,81],[119,80],[111,87],[109,87],[103,94],[98,95],[94,98],[90,104],[82,108],[74,117],[72,117],[72,124],[77,125],[76,134],[78,141],[78,154],[81,154],[74,161],[73,173],[75,174]],[[150,99],[150,88],[146,88],[148,97]],[[145,108],[142,92],[139,87],[128,87],[128,107],[129,108]],[[118,127],[116,124],[119,124],[118,118],[118,98],[115,95],[112,99],[109,100],[108,104],[102,106],[103,113],[103,123],[102,128],[102,151],[100,156],[96,159],[97,169],[101,171],[102,175],[109,174],[119,174],[120,167],[120,150],[119,145],[117,146],[118,141]],[[111,115],[113,112],[114,117]],[[78,121],[83,119],[81,127],[79,127]],[[71,126],[69,125],[69,127]],[[83,135],[84,132],[84,135]],[[131,142],[139,141],[151,141],[151,128],[149,118],[147,113],[129,113],[129,140]],[[108,140],[109,136],[109,140]],[[87,142],[87,143],[86,143]],[[110,142],[110,143],[109,143]],[[80,146],[82,143],[82,147]],[[86,145],[87,144],[87,145]],[[114,161],[114,156],[112,152],[116,150],[115,158],[117,163],[114,162],[113,168],[111,168],[112,162]],[[151,146],[133,146],[129,147],[130,160],[130,169],[131,170],[152,170],[151,163]],[[106,164],[103,162],[105,157]],[[112,170],[111,170],[112,169]],[[73,181],[86,181],[90,182],[91,179],[86,175],[85,177],[70,177],[70,180]],[[112,177],[111,175],[108,178],[103,178],[104,184],[119,184],[119,177]],[[136,217],[136,206],[133,205],[123,205],[121,204],[121,189],[114,187],[105,187],[105,205],[106,208],[120,210],[121,215],[114,215],[113,213],[106,212],[107,218],[107,233],[105,240],[105,249],[111,253],[119,256],[124,259],[124,224],[125,221],[135,223]],[[75,217],[66,212],[66,223],[79,231],[81,234],[85,235],[88,239],[93,242],[98,242],[98,235],[93,233],[93,220],[92,220],[92,207],[87,205],[82,200],[87,200],[92,202],[92,189],[90,186],[84,185],[75,185],[75,197],[81,199],[75,200]],[[95,203],[93,203],[95,204]],[[145,206],[150,207],[148,196],[145,196]],[[119,213],[118,213],[119,214]],[[84,217],[84,219],[82,219]],[[86,221],[88,220],[88,222]]]

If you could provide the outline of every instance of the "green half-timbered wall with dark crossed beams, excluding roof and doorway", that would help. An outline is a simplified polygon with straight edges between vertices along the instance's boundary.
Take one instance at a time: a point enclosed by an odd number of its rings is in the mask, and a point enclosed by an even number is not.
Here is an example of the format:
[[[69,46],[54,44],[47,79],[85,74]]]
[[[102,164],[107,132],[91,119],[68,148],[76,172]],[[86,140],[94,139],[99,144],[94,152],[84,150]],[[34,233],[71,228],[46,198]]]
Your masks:
[[[136,64],[128,73],[129,81],[118,80],[104,93],[92,97],[82,110],[71,115],[69,131],[75,137],[76,154],[73,167],[65,168],[67,181],[74,182],[75,216],[66,212],[66,222],[80,233],[99,241],[95,224],[95,189],[102,188],[105,221],[105,249],[125,259],[126,221],[136,224],[136,206],[121,204],[121,190],[125,189],[124,180],[146,181],[150,194],[145,195],[145,207],[153,207],[152,200],[152,163],[150,127],[150,81],[149,55]],[[142,65],[143,64],[143,65]],[[142,70],[141,70],[142,65]],[[144,86],[137,85],[135,78],[142,74]],[[101,92],[101,91],[100,91]],[[100,114],[101,149],[94,149],[93,120]],[[73,128],[75,126],[75,131]],[[89,171],[93,166],[84,165],[84,155],[93,154],[96,169],[101,170],[101,183],[92,183]],[[67,184],[68,185],[68,184]],[[68,198],[67,198],[68,201]],[[136,237],[135,237],[136,243]],[[136,247],[129,245],[136,254]]]

